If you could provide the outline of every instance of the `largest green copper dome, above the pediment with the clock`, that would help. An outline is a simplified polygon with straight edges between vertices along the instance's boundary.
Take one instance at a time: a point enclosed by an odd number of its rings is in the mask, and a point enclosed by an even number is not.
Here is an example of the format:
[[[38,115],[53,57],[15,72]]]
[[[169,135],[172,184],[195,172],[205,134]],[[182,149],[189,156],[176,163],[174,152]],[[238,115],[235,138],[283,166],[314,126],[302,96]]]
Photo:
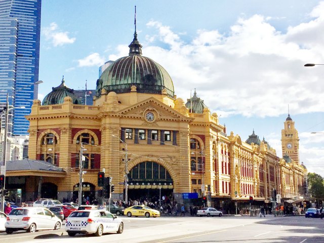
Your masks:
[[[96,96],[101,95],[102,89],[117,94],[130,93],[131,87],[136,86],[138,93],[166,93],[169,97],[174,97],[174,86],[169,73],[152,59],[142,56],[142,46],[137,40],[136,32],[129,48],[129,56],[119,58],[103,71],[97,80]]]

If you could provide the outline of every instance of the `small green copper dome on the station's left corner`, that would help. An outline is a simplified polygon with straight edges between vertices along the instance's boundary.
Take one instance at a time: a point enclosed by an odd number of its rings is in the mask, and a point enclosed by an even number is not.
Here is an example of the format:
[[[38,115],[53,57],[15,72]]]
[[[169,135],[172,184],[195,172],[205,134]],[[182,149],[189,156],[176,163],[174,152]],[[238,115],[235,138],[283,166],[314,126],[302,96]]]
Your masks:
[[[65,86],[64,76],[62,78],[62,83],[56,88],[52,88],[52,92],[45,96],[43,100],[43,105],[56,105],[63,104],[64,98],[68,96],[72,98],[73,104],[81,104],[79,98],[74,95],[73,90]]]

